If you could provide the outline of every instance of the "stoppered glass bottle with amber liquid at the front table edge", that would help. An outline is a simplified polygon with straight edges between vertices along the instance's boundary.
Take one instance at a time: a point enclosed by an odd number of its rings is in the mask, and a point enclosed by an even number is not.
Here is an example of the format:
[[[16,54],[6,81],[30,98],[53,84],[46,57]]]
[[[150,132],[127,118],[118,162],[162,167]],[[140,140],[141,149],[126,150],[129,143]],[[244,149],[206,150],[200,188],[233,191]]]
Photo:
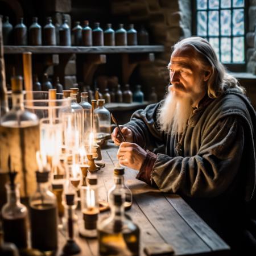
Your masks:
[[[111,215],[98,224],[99,254],[139,255],[139,227],[124,213],[124,195],[114,193]]]

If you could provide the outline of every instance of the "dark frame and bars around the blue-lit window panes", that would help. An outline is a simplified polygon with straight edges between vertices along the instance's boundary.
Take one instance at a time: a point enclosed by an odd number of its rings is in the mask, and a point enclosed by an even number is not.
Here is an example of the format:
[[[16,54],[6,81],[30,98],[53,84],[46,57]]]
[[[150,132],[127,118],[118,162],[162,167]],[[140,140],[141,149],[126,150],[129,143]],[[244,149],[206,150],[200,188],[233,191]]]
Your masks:
[[[221,0],[219,0],[220,2]],[[234,0],[231,0],[232,3]],[[247,52],[247,44],[246,44],[246,33],[248,32],[248,9],[249,9],[249,0],[244,0],[245,1],[245,6],[243,7],[244,9],[244,51],[245,51],[245,61],[243,61],[242,63],[222,63],[223,65],[225,65],[226,68],[228,68],[229,71],[233,71],[233,72],[246,72],[246,63],[247,63],[247,56],[246,56],[246,52]],[[209,3],[209,0],[207,0],[207,3]],[[234,9],[240,9],[241,7],[230,7],[230,8],[227,8],[227,10],[234,10]],[[225,9],[220,9],[220,6],[218,7],[218,9],[208,9],[208,10],[202,10],[202,11],[207,11],[207,16],[209,11],[211,10],[217,10],[217,11],[220,11],[220,10],[225,10]],[[198,11],[201,11],[201,10],[197,10],[197,0],[193,0],[192,1],[192,24],[191,24],[191,27],[192,27],[192,35],[193,36],[196,36],[197,35],[197,12]],[[193,22],[194,20],[194,22]],[[219,13],[219,22],[220,22],[220,13]],[[219,27],[220,27],[220,23],[219,23]],[[207,24],[207,29],[208,29],[208,24]],[[232,29],[232,28],[231,28]],[[205,36],[205,38],[221,38],[222,36],[221,35],[218,35],[218,36],[209,36],[208,35],[208,31],[207,31],[207,36]],[[224,36],[226,37],[226,36]],[[228,36],[229,38],[233,38],[233,33],[231,33],[230,36]],[[219,46],[220,47],[220,46]],[[233,49],[232,49],[233,51]]]

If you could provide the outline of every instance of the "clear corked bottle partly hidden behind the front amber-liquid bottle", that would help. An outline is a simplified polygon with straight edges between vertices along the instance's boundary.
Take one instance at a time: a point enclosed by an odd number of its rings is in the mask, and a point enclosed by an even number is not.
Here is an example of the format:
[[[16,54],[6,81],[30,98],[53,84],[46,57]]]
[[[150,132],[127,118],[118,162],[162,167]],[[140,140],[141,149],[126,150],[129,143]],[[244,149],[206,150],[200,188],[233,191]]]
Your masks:
[[[113,204],[114,193],[125,193],[125,209],[130,209],[133,204],[133,195],[129,188],[125,185],[125,168],[119,167],[114,168],[114,185],[108,191],[108,201],[109,204]]]

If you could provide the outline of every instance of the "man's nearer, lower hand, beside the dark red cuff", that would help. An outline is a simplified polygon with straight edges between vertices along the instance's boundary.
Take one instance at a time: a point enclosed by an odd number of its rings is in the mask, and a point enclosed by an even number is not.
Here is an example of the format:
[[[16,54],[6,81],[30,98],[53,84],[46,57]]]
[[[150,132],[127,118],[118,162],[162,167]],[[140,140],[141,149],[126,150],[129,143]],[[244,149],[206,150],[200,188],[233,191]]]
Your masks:
[[[117,152],[119,164],[134,170],[140,170],[147,152],[135,143],[123,142]]]

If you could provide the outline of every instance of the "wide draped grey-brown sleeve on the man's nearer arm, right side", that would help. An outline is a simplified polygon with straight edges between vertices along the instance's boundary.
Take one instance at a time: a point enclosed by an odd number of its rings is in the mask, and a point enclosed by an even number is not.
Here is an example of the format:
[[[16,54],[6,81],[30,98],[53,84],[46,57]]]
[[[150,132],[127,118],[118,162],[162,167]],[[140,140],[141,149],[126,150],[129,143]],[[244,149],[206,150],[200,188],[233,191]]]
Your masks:
[[[218,196],[233,183],[240,168],[245,143],[242,121],[221,119],[203,134],[196,155],[158,154],[151,171],[151,184],[163,192],[186,196]]]

